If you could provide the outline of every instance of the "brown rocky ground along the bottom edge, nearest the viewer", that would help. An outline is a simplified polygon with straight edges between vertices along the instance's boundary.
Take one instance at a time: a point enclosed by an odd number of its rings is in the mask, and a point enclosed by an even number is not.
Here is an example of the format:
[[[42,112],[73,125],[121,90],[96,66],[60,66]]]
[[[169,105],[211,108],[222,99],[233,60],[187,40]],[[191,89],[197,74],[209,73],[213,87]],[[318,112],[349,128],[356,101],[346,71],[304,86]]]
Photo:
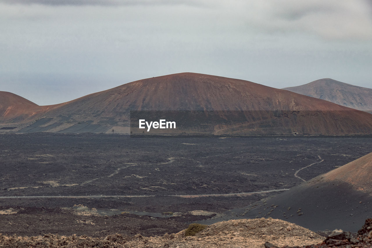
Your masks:
[[[372,219],[367,219],[357,237],[335,230],[327,239],[308,229],[278,219],[240,219],[218,222],[207,226],[195,236],[186,230],[163,236],[123,236],[119,233],[102,238],[89,236],[9,236],[0,234],[0,247],[246,247],[246,248],[328,248],[372,247]],[[275,245],[274,245],[275,244]],[[313,245],[317,244],[317,245]]]

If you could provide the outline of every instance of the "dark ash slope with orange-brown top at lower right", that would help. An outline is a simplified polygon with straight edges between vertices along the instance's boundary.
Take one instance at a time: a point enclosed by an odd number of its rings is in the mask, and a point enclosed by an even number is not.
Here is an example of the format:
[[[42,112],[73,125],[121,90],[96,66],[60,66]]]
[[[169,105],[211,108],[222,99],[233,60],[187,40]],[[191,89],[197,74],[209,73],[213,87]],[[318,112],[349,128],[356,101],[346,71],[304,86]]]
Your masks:
[[[244,218],[273,217],[310,230],[356,232],[372,216],[372,153],[244,209]]]

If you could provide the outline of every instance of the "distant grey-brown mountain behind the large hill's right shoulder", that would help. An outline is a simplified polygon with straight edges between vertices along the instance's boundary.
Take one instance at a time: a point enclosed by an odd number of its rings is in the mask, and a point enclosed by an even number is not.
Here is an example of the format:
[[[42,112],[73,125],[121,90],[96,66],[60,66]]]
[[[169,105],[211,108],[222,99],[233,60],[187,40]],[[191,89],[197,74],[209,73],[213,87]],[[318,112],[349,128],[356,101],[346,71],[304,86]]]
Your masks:
[[[324,78],[305,85],[283,89],[334,102],[349,108],[372,112],[372,89],[369,88]]]

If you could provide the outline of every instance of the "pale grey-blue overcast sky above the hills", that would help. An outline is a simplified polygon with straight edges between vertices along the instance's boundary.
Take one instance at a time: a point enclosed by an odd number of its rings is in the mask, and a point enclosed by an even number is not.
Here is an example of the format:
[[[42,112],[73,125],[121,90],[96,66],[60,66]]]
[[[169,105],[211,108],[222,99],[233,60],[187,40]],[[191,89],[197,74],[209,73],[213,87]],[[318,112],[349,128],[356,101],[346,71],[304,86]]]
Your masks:
[[[372,0],[0,0],[0,90],[51,105],[181,72],[372,88]]]

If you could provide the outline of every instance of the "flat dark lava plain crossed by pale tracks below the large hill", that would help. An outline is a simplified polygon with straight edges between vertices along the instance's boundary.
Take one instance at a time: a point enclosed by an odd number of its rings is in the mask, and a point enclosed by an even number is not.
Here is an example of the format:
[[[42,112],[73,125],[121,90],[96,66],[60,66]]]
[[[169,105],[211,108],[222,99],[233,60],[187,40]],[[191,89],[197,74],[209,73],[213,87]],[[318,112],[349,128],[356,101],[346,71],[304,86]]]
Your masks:
[[[371,150],[368,136],[3,134],[0,210],[17,213],[0,215],[0,233],[148,236],[177,232],[190,222],[280,192],[179,195],[288,189]],[[119,214],[79,215],[72,209],[74,204],[115,209]],[[196,215],[191,212],[195,210],[209,213]],[[148,213],[131,214],[134,211]]]

